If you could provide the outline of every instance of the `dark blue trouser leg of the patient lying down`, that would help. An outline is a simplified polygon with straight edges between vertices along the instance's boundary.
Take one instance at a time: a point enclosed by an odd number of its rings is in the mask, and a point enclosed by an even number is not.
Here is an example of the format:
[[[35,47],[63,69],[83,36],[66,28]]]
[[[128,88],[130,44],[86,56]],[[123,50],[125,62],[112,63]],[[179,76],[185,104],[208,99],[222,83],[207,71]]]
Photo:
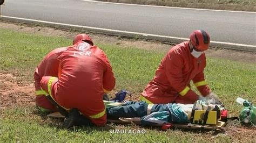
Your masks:
[[[145,102],[131,102],[115,108],[106,108],[107,119],[143,117],[147,115],[147,105]]]

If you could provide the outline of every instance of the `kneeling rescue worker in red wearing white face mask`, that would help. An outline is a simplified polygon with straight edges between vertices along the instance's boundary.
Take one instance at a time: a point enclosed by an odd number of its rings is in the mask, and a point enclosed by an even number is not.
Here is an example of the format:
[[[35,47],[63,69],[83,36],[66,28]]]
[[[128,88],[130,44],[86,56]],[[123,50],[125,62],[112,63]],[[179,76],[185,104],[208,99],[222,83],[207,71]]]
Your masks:
[[[209,45],[208,33],[196,30],[190,34],[189,41],[171,48],[161,61],[153,80],[142,92],[141,101],[151,104],[193,104],[203,97],[217,98],[212,94],[204,76],[204,51]],[[203,97],[190,89],[191,80]]]

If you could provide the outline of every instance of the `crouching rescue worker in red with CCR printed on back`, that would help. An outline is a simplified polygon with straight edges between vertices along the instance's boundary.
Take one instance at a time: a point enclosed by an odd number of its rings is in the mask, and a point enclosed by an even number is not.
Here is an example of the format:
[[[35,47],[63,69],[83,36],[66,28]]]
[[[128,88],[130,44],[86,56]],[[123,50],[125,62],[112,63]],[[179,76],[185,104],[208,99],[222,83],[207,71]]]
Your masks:
[[[44,76],[41,88],[64,109],[77,109],[94,125],[102,126],[106,124],[103,95],[114,88],[116,80],[102,49],[84,42],[83,35],[78,39],[59,56],[58,78]],[[68,127],[76,125],[71,122]]]

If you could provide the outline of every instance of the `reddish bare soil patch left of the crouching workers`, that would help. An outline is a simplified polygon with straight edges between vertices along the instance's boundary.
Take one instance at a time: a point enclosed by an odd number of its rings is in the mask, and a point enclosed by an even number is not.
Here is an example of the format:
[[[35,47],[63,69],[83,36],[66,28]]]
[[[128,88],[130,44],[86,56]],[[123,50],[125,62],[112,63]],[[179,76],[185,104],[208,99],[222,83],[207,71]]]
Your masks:
[[[16,77],[0,72],[0,110],[14,106],[35,105],[35,91],[33,83],[19,85]]]

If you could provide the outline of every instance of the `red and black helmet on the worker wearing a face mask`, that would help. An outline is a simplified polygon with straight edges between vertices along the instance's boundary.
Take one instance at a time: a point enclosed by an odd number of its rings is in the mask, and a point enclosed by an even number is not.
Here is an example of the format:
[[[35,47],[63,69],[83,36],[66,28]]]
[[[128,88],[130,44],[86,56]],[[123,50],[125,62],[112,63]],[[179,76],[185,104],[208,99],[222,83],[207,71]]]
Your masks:
[[[204,30],[196,30],[190,34],[190,41],[200,51],[205,51],[210,45],[210,36]]]

